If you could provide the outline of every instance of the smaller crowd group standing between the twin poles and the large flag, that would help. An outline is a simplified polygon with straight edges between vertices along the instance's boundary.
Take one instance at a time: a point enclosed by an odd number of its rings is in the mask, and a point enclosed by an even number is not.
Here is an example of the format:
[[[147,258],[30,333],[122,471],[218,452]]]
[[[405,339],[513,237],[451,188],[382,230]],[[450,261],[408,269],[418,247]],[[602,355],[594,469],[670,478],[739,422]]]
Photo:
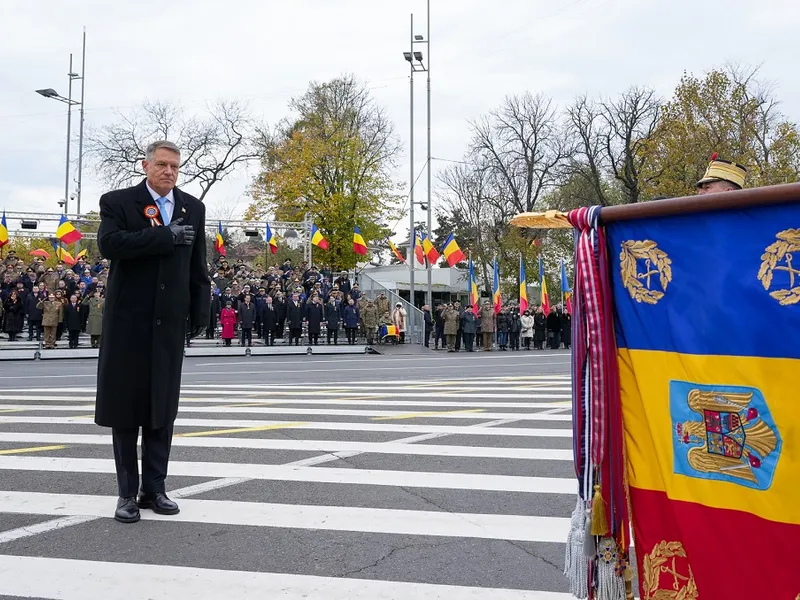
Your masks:
[[[428,321],[431,321],[428,325]],[[475,310],[471,304],[462,307],[460,302],[439,304],[435,316],[425,316],[426,329],[434,331],[434,349],[448,352],[474,352],[482,348],[488,352],[496,345],[500,351],[520,349],[552,350],[569,348],[572,336],[572,316],[561,305],[550,309],[545,315],[539,306],[531,310],[519,310],[519,305],[510,302],[496,312],[488,300]],[[428,331],[425,345],[429,345]]]

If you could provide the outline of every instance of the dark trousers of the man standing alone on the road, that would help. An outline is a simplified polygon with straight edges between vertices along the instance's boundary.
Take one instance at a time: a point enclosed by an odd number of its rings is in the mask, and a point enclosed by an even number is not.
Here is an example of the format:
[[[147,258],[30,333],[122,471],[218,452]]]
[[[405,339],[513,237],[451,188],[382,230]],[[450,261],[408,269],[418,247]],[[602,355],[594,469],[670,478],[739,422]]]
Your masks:
[[[139,428],[111,430],[114,442],[114,463],[117,468],[117,488],[121,498],[131,498],[139,492],[139,460],[136,440]],[[160,429],[142,427],[142,491],[145,494],[164,492],[167,463],[172,446],[172,424]]]

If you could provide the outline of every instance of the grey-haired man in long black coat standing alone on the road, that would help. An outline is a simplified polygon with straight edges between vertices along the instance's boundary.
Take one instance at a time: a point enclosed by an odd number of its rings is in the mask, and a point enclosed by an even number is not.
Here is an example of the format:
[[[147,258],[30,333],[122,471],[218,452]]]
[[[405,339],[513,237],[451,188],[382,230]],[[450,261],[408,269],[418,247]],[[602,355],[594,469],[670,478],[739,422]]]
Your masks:
[[[114,518],[139,509],[176,514],[165,494],[178,413],[187,319],[192,337],[208,326],[205,207],[175,183],[180,150],[147,147],[139,185],[100,198],[97,242],[111,261],[103,313],[95,423],[112,428],[119,500]],[[136,442],[142,428],[142,486]]]

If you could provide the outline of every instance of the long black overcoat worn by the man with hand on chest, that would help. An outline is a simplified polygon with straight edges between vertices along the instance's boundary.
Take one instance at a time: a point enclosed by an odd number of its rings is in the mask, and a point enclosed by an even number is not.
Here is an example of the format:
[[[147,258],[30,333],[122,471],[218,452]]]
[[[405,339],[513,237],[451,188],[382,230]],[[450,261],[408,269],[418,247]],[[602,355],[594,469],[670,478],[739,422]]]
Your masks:
[[[104,427],[161,428],[175,420],[186,341],[192,326],[209,320],[205,206],[175,188],[172,219],[197,232],[191,246],[175,246],[168,227],[152,226],[155,206],[144,181],[100,198],[97,242],[111,261],[97,372],[95,423]]]

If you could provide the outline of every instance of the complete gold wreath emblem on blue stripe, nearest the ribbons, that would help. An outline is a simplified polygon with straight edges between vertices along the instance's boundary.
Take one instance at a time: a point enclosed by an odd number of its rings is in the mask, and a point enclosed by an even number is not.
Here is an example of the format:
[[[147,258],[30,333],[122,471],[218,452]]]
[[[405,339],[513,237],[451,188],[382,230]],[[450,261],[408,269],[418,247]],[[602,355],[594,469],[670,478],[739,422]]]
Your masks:
[[[652,240],[622,242],[619,255],[622,285],[631,298],[645,304],[656,304],[664,297],[672,281],[672,261]],[[644,261],[644,272],[639,272]],[[658,287],[661,289],[657,289]]]

